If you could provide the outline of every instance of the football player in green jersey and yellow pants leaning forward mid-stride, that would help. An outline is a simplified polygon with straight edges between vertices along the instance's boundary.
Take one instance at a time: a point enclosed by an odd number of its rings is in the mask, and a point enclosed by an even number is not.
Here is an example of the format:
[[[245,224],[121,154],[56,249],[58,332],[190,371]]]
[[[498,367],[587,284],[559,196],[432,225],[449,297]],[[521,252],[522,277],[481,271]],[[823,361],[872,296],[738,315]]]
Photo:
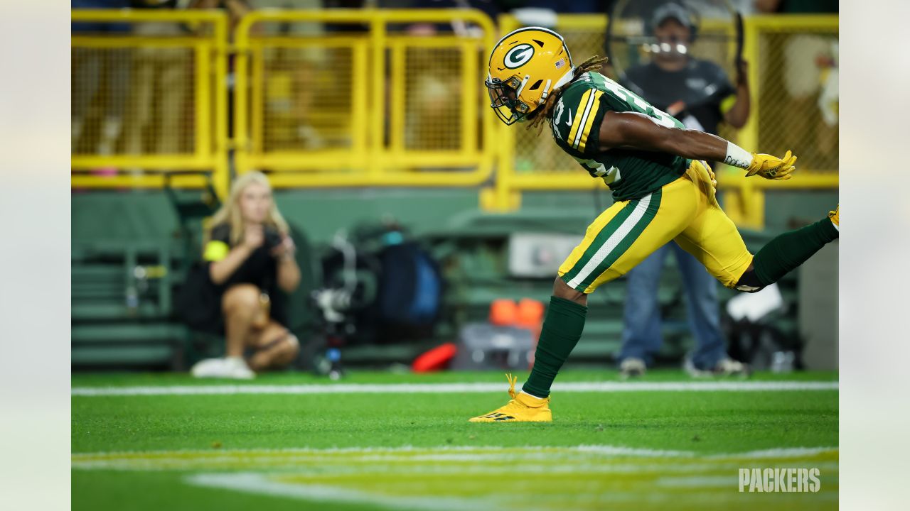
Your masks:
[[[750,153],[681,122],[598,73],[606,59],[577,67],[561,35],[525,27],[490,53],[485,85],[507,125],[549,125],[553,140],[612,190],[613,205],[562,263],[541,330],[531,376],[505,406],[471,422],[550,422],[550,387],[581,338],[588,294],[675,241],[723,286],[755,292],[773,284],[838,237],[839,207],[751,254],[714,195],[705,161],[738,166],[765,179],[793,177],[796,156]]]

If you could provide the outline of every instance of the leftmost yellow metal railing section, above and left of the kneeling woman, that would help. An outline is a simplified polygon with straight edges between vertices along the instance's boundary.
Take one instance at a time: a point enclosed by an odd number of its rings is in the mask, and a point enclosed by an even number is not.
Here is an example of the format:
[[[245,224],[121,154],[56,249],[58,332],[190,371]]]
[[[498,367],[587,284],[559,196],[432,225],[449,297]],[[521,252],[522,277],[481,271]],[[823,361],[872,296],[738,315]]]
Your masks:
[[[72,20],[127,31],[74,32],[74,187],[202,186],[227,191],[227,16],[219,11],[74,10]],[[155,25],[159,30],[139,27]],[[160,34],[157,34],[160,33]],[[102,76],[94,76],[101,72]],[[104,78],[119,72],[120,82]],[[167,83],[157,83],[163,77]],[[92,108],[115,94],[111,109]],[[94,89],[94,90],[87,90]],[[104,110],[97,113],[96,110]],[[94,150],[90,149],[95,145]]]

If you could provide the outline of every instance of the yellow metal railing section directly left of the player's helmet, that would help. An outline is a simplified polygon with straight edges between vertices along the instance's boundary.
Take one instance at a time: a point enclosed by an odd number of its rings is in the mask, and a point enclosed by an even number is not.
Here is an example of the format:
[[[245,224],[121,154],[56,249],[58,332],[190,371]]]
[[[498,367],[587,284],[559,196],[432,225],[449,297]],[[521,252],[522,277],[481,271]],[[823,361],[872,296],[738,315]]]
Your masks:
[[[421,37],[389,28],[453,21],[479,34]],[[261,34],[257,27],[268,23],[365,31]],[[480,88],[481,55],[495,33],[489,17],[463,9],[245,16],[236,32],[238,174],[265,170],[279,187],[480,185],[496,155]]]

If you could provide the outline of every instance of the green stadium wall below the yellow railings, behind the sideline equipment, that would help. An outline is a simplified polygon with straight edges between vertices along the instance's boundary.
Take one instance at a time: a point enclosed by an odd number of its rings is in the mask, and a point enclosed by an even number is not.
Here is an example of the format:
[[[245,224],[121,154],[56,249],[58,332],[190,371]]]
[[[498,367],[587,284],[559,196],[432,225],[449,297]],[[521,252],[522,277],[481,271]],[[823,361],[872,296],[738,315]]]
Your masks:
[[[606,192],[602,190],[600,197],[604,207],[610,202]],[[478,194],[473,188],[280,190],[276,192],[276,198],[288,220],[305,231],[313,251],[327,245],[339,229],[349,230],[364,222],[376,222],[385,215],[394,217],[414,235],[432,234],[439,239],[447,233],[457,233],[460,265],[480,268],[483,276],[470,280],[456,277],[451,283],[447,304],[450,319],[456,323],[484,320],[490,297],[518,299],[530,296],[545,301],[551,287],[550,279],[510,279],[505,273],[505,245],[490,243],[489,239],[480,236],[471,240],[470,227],[465,229],[463,225],[501,225],[500,229],[506,233],[502,237],[511,229],[569,231],[581,235],[595,213],[594,197],[590,192],[531,192],[525,195],[521,209],[509,215],[481,213]],[[833,191],[769,193],[765,202],[767,228],[763,232],[744,231],[746,242],[755,250],[773,233],[786,229],[791,223],[807,222],[824,215],[836,201],[837,194]],[[557,212],[559,218],[548,222],[547,218]],[[466,222],[471,219],[473,223]],[[72,346],[76,368],[161,366],[180,369],[198,356],[196,351],[205,349],[193,346],[221,344],[218,339],[199,339],[190,335],[175,318],[175,311],[169,308],[170,303],[164,297],[166,291],[152,293],[152,299],[140,296],[142,303],[137,308],[125,306],[131,286],[123,285],[123,276],[126,275],[127,282],[134,282],[135,268],[131,265],[166,266],[168,275],[161,281],[162,289],[173,288],[182,281],[181,268],[186,267],[187,245],[179,235],[178,217],[165,193],[154,190],[76,193],[72,201],[72,232]],[[190,245],[199,243],[200,239],[189,240]],[[111,252],[110,247],[127,253],[133,251],[138,259],[130,260],[128,255],[121,257],[116,251]],[[165,254],[160,256],[162,260],[155,259],[159,253]],[[674,264],[669,258],[668,265]],[[108,276],[106,290],[99,290],[98,272]],[[90,277],[85,283],[83,275]],[[455,275],[463,274],[456,272]],[[794,272],[782,286],[790,312],[780,324],[790,331],[800,327],[794,307],[800,299],[798,275]],[[682,289],[678,274],[665,272],[661,289],[660,300],[668,311],[664,322],[664,355],[672,359],[692,346],[693,339],[685,327],[684,307],[678,306]],[[154,290],[152,286],[151,291]],[[574,361],[604,364],[619,348],[625,286],[622,283],[609,286],[599,295],[592,306],[586,336],[573,356]],[[723,302],[732,296],[733,292],[722,289]],[[308,323],[313,312],[303,305],[305,297],[300,300],[292,316]],[[311,332],[303,332],[301,338],[306,339],[308,334]],[[393,346],[379,349],[361,346],[353,348],[350,355],[363,362],[408,362],[422,346],[451,340],[455,331],[452,325],[446,325],[438,334],[438,338],[429,339],[422,345],[396,347],[393,343]],[[192,345],[194,342],[196,345]]]

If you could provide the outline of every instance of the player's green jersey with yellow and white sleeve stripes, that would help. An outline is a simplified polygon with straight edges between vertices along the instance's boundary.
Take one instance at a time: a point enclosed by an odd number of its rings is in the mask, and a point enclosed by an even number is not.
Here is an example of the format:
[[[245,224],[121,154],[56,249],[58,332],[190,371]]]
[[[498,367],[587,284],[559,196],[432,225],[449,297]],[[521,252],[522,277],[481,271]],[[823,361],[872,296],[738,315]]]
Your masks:
[[[591,177],[601,177],[610,186],[614,200],[641,198],[685,173],[691,160],[681,156],[637,149],[601,151],[598,137],[608,110],[648,115],[668,127],[685,126],[600,73],[585,73],[566,87],[552,111],[553,138]]]

